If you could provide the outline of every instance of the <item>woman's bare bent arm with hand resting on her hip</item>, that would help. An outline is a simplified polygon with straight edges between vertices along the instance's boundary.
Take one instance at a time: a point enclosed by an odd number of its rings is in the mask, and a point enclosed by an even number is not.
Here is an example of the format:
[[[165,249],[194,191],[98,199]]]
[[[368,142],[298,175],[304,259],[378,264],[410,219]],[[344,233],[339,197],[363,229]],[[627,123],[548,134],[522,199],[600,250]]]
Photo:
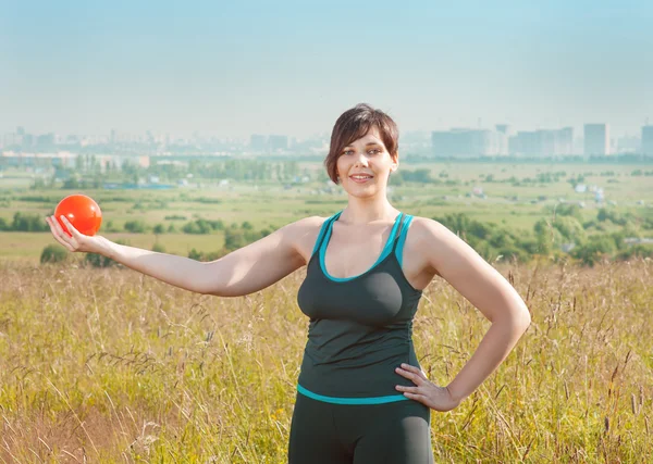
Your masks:
[[[428,405],[446,411],[471,394],[506,359],[528,328],[530,313],[513,286],[442,224],[416,217],[411,231],[430,271],[451,284],[492,323],[476,352],[446,387],[446,391],[431,384],[431,397],[443,404]],[[410,372],[410,367],[407,367],[405,371]],[[409,375],[405,376],[411,378]],[[412,369],[412,377],[416,385],[424,384],[426,377],[419,369]],[[428,380],[426,383],[430,384]],[[436,389],[440,391],[435,391]],[[429,386],[423,385],[421,390],[427,392]],[[448,399],[435,398],[445,397],[447,392],[451,396]],[[422,399],[414,399],[427,403]],[[446,405],[447,401],[451,401],[451,407]]]

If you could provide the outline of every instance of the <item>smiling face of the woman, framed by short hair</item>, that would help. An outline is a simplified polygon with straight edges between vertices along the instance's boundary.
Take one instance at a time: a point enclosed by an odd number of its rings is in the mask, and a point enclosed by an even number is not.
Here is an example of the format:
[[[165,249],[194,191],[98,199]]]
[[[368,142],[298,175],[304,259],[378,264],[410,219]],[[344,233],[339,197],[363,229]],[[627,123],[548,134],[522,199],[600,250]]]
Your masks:
[[[361,138],[344,147],[336,162],[340,181],[347,193],[368,198],[385,193],[387,177],[398,166],[398,156],[392,156],[373,126]]]

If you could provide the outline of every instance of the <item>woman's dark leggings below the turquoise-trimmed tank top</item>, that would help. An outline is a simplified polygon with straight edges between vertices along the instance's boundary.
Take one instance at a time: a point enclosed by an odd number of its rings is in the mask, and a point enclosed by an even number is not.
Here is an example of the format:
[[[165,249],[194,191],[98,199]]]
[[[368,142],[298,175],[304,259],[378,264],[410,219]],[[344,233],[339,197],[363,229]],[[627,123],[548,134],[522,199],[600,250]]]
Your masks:
[[[414,401],[332,404],[297,393],[289,464],[432,464],[431,411]]]

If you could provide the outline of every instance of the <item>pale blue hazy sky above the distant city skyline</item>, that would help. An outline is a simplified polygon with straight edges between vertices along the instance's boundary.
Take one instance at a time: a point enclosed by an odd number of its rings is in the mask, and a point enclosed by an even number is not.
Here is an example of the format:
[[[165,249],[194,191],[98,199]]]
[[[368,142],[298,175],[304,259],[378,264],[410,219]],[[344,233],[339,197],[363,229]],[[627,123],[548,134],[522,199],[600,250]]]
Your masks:
[[[0,0],[0,133],[653,124],[653,2]]]

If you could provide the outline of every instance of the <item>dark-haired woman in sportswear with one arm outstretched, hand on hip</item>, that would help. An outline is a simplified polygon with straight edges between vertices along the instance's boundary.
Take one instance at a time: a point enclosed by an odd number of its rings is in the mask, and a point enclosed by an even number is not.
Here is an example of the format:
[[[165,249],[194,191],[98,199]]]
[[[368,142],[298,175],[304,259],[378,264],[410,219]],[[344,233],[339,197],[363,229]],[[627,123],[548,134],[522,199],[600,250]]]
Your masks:
[[[335,123],[325,160],[348,195],[329,218],[307,217],[200,263],[78,234],[53,217],[70,251],[100,253],[168,284],[237,297],[307,265],[298,303],[310,317],[297,385],[288,461],[432,463],[430,410],[456,407],[498,366],[530,324],[515,289],[435,221],[406,215],[387,201],[398,131],[385,113],[359,104]],[[422,289],[440,276],[492,322],[477,351],[446,387],[429,381],[411,340]]]

